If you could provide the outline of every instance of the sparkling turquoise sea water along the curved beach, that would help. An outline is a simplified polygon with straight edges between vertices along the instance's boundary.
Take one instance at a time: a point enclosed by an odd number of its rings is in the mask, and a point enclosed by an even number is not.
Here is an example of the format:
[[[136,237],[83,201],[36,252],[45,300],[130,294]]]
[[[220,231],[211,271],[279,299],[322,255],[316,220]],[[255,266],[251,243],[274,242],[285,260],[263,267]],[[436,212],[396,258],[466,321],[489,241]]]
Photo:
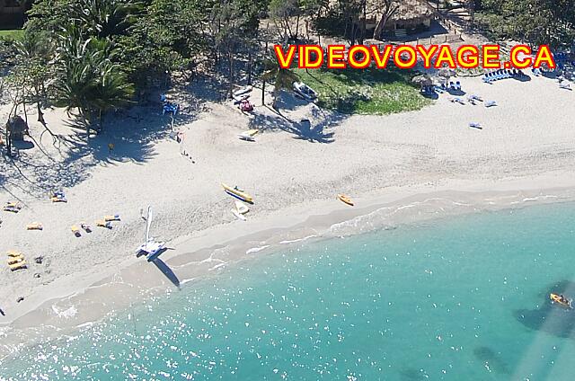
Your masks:
[[[0,379],[572,380],[575,205],[286,246],[4,359]]]

